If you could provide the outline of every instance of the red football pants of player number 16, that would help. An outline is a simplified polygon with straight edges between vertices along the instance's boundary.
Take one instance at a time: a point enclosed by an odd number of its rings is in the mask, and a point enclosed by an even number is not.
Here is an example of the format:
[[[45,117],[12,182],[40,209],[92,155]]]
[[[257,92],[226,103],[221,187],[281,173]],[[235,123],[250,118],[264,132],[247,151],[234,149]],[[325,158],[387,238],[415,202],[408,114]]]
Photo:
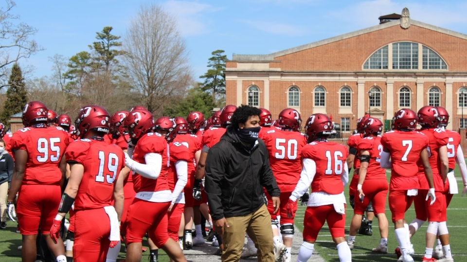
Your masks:
[[[332,238],[345,237],[345,214],[337,213],[334,205],[331,204],[306,208],[303,220],[303,240],[315,241],[326,221]]]

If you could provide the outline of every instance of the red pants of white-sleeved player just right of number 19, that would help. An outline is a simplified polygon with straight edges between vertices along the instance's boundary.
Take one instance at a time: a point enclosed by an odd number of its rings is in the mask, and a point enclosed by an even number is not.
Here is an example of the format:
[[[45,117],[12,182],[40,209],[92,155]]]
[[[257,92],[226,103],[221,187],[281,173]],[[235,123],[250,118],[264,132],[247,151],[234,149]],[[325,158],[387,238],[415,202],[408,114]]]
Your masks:
[[[135,198],[126,217],[126,242],[141,243],[146,232],[154,244],[161,248],[169,239],[167,210],[170,202],[149,202]],[[177,229],[178,230],[178,229]]]

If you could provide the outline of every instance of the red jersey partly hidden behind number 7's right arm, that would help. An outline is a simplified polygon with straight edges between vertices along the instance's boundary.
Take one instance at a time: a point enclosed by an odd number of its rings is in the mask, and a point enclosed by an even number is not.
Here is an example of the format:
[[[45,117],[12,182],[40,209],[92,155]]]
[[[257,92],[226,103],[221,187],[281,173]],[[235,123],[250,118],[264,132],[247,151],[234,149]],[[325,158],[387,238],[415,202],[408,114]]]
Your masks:
[[[428,155],[430,160],[431,172],[433,172],[433,182],[436,191],[444,191],[444,183],[441,178],[441,161],[439,160],[439,147],[447,146],[449,143],[448,134],[441,129],[424,129],[420,132],[424,133],[430,140],[428,146]],[[422,161],[419,159],[418,164],[418,179],[420,180],[420,189],[430,189]]]

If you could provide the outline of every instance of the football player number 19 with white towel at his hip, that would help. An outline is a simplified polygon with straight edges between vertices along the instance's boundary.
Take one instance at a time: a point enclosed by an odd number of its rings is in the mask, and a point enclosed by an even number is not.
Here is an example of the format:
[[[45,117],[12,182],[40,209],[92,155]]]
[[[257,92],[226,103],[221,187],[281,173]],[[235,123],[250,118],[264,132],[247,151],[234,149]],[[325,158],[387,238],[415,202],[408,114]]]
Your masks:
[[[125,154],[120,147],[104,142],[109,118],[107,110],[100,106],[81,108],[75,120],[81,139],[72,142],[65,152],[71,174],[51,235],[57,241],[61,220],[74,203],[73,260],[76,262],[105,262],[109,247],[120,246],[124,177],[119,174],[125,166]],[[89,223],[90,217],[95,219],[94,223]]]

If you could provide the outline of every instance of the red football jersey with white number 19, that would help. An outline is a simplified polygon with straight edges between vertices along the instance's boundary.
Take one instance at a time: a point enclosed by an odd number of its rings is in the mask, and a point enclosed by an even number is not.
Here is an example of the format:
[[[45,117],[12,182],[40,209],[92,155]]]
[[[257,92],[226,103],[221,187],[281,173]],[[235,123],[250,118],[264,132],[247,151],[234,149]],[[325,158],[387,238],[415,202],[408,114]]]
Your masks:
[[[125,154],[120,147],[105,141],[80,139],[65,152],[67,162],[84,166],[84,174],[74,200],[74,210],[110,206],[114,183],[125,167]]]

